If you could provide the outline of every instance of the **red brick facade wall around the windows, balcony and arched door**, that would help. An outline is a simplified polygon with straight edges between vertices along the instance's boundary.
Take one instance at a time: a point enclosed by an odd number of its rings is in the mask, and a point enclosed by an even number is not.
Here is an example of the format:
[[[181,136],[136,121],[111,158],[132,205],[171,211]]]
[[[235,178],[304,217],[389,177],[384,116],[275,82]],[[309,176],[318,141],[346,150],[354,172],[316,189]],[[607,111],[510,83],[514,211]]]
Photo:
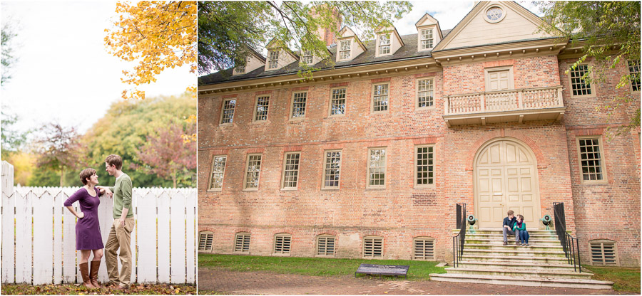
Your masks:
[[[288,119],[293,88],[269,91],[272,97],[268,120],[260,123],[252,122],[258,93],[239,93],[234,123],[228,126],[218,125],[220,95],[199,98],[200,230],[214,231],[215,253],[232,253],[234,234],[249,231],[252,233],[250,249],[255,255],[272,253],[275,231],[291,233],[292,255],[296,256],[314,255],[315,237],[330,231],[336,234],[337,257],[353,258],[361,257],[362,238],[373,231],[384,237],[384,258],[410,258],[412,238],[430,236],[436,239],[437,260],[447,260],[452,257],[455,203],[465,202],[469,212],[474,211],[472,159],[475,153],[489,140],[509,138],[524,142],[536,156],[542,214],[552,214],[553,202],[564,202],[569,230],[577,231],[578,236],[584,238],[582,248],[587,245],[588,235],[611,234],[617,238],[618,250],[621,253],[625,250],[622,254],[632,256],[639,264],[639,134],[627,135],[626,140],[605,146],[609,186],[600,192],[595,192],[595,186],[586,189],[591,196],[605,202],[617,200],[615,208],[633,211],[635,217],[630,225],[626,224],[627,231],[609,231],[598,226],[602,224],[588,225],[591,220],[586,219],[586,214],[601,211],[603,203],[596,205],[584,198],[586,192],[577,184],[579,176],[574,172],[577,156],[571,130],[592,122],[584,120],[582,114],[595,111],[592,106],[571,100],[568,90],[564,95],[568,107],[562,122],[452,128],[444,124],[444,95],[483,91],[484,67],[508,64],[514,65],[515,88],[567,83],[564,71],[559,70],[564,69],[566,63],[560,62],[558,68],[556,56],[452,65],[444,67],[443,73],[342,83],[347,84],[347,97],[346,115],[341,117],[328,117],[330,88],[337,85],[307,88],[306,115],[302,120]],[[424,75],[435,78],[435,106],[415,110],[414,83]],[[390,83],[389,110],[372,114],[372,84],[382,81]],[[568,85],[565,84],[565,88]],[[639,107],[639,100],[637,105]],[[593,117],[603,120],[601,115]],[[436,185],[414,189],[414,146],[424,143],[434,143]],[[631,150],[633,144],[636,144],[636,153],[629,152],[623,160],[611,160],[626,154],[624,151]],[[379,146],[387,147],[387,185],[385,189],[366,189],[367,148]],[[247,154],[256,149],[263,153],[259,190],[243,191]],[[325,149],[342,149],[340,190],[320,189]],[[609,152],[608,149],[615,150]],[[296,191],[280,190],[283,157],[287,151],[301,152]],[[228,155],[223,191],[206,191],[214,154]],[[637,160],[633,162],[633,158]],[[611,177],[613,174],[622,177]],[[623,182],[625,179],[628,183]],[[606,191],[617,192],[617,198]],[[599,217],[614,219],[608,211]],[[631,241],[631,244],[621,241]],[[583,252],[588,254],[587,250]]]

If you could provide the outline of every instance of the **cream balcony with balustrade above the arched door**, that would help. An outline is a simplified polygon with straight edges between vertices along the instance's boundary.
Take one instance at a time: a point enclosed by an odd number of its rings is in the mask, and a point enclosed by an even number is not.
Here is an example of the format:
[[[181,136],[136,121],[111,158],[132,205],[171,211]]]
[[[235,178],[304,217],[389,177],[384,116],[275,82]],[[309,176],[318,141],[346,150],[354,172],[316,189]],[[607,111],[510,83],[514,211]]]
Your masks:
[[[523,88],[484,93],[447,95],[444,121],[454,125],[486,125],[529,120],[561,120],[562,86]]]

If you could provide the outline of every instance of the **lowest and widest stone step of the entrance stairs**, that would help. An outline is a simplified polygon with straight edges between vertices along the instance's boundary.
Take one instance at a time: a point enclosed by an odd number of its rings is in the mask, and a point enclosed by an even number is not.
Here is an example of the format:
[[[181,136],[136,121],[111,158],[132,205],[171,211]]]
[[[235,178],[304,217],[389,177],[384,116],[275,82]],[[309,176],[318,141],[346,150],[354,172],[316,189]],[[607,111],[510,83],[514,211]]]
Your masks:
[[[588,279],[561,279],[545,277],[509,277],[497,275],[467,275],[456,273],[431,273],[430,280],[441,282],[474,282],[491,285],[520,285],[531,287],[571,287],[581,289],[613,288],[613,282]]]

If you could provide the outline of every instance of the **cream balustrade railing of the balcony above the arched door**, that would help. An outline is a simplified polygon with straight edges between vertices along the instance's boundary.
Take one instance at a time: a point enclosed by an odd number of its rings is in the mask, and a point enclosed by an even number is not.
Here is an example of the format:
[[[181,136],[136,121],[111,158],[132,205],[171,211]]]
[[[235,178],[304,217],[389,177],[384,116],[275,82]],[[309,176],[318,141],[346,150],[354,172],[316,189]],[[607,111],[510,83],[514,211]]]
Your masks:
[[[564,107],[562,86],[448,95],[444,115]]]

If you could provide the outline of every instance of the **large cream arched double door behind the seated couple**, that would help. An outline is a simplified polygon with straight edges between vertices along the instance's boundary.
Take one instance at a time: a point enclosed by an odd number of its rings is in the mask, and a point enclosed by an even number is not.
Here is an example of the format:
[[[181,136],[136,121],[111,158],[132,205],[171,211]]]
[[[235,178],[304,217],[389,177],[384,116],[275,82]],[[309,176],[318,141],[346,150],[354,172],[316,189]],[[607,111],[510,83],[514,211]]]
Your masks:
[[[541,209],[537,163],[519,140],[497,138],[484,144],[474,158],[474,208],[479,227],[500,228],[508,210],[537,228]]]

